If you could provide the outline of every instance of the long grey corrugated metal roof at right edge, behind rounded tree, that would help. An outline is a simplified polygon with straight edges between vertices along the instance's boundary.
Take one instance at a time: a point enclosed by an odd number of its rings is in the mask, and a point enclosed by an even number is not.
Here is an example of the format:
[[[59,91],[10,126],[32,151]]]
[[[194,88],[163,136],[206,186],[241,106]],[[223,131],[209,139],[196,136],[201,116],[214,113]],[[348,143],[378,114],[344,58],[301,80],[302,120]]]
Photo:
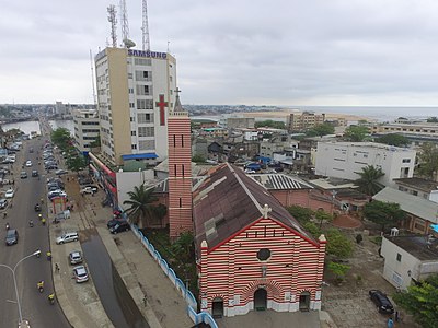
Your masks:
[[[372,196],[372,199],[384,202],[396,202],[403,211],[433,223],[438,223],[438,203],[434,201],[390,187],[385,187],[383,190]]]

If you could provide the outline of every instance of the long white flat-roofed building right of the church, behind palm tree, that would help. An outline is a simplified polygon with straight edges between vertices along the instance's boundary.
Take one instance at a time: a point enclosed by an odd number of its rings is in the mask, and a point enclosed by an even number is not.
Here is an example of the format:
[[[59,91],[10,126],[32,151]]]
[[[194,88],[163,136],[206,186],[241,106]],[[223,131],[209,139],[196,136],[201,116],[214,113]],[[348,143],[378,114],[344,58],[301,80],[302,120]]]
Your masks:
[[[315,174],[356,180],[367,165],[380,167],[384,186],[414,174],[416,152],[374,142],[318,142]]]

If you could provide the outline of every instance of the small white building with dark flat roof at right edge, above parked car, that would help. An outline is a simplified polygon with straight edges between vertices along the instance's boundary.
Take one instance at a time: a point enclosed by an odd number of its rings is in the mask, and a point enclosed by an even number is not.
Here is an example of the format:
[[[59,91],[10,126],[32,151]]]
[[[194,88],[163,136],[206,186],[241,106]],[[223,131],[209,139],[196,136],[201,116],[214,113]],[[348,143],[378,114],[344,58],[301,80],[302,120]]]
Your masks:
[[[383,278],[393,286],[410,285],[438,273],[438,241],[430,235],[384,236]]]

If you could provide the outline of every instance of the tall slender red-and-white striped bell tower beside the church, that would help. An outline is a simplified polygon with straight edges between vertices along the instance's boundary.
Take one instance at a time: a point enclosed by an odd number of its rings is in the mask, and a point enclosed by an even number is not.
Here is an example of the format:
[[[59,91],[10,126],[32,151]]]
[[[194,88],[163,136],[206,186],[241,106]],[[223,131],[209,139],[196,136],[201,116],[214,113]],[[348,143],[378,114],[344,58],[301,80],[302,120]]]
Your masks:
[[[169,233],[171,238],[193,231],[191,118],[176,95],[169,114]]]

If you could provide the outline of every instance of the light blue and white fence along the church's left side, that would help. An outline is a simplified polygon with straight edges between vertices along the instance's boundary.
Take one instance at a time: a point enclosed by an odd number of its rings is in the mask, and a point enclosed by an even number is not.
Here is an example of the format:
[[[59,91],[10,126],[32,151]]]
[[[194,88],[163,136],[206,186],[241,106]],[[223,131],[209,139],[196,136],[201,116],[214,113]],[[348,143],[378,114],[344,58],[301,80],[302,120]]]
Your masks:
[[[211,328],[218,328],[218,325],[216,324],[215,319],[211,317],[209,313],[201,312],[197,313],[198,308],[198,303],[193,295],[193,293],[187,290],[183,283],[183,281],[176,277],[175,271],[172,270],[171,267],[169,267],[168,262],[161,257],[160,253],[155,250],[153,245],[149,242],[149,239],[143,236],[141,231],[136,225],[132,225],[132,231],[135,235],[141,241],[141,244],[143,244],[145,248],[148,249],[150,255],[155,259],[157,263],[161,267],[163,272],[168,276],[169,280],[173,283],[173,285],[176,288],[177,291],[180,291],[181,295],[187,303],[187,315],[188,317],[195,323],[195,324],[200,324],[205,323],[210,325]]]

